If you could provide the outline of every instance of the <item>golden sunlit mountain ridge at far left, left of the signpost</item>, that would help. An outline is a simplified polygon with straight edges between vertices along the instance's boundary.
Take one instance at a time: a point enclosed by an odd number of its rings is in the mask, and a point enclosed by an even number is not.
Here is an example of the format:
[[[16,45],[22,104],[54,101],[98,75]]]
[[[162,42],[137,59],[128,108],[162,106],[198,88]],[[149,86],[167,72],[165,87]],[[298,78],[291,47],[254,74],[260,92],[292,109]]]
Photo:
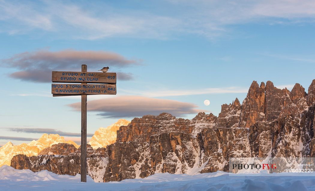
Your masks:
[[[37,156],[44,148],[58,143],[69,143],[75,147],[79,147],[75,142],[66,141],[63,136],[59,136],[58,134],[43,134],[37,141],[33,140],[28,144],[14,145],[12,142],[7,142],[0,148],[0,166],[10,165],[14,155],[25,154],[26,156]]]

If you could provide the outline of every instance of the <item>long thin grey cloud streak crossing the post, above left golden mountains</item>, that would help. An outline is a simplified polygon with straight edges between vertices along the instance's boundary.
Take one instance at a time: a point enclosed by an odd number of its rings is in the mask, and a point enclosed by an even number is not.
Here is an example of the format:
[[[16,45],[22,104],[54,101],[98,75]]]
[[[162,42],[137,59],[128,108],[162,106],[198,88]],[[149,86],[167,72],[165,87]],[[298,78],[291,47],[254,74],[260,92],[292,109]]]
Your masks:
[[[46,129],[46,128],[8,128],[10,131],[19,132],[19,133],[47,133],[47,134],[58,134],[60,136],[73,136],[78,137],[81,136],[81,133],[70,133],[65,131],[60,131],[56,129]],[[94,134],[87,134],[87,136],[91,137]]]

